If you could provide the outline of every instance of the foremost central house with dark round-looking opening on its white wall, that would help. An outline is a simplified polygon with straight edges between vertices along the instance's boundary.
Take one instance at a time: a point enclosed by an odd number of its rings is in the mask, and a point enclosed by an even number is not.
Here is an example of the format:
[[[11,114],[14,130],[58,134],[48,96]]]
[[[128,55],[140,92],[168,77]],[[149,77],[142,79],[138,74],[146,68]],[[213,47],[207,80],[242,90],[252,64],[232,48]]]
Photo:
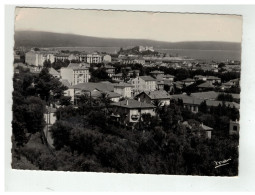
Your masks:
[[[124,124],[139,122],[142,114],[151,114],[152,116],[155,116],[155,106],[133,99],[111,103],[111,106],[111,117]]]

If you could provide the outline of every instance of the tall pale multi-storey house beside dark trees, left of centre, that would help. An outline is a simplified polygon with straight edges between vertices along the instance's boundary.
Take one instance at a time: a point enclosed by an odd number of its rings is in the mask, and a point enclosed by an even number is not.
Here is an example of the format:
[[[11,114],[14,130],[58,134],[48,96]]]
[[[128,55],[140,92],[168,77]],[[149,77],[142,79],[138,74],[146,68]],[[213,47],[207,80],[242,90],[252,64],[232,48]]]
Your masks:
[[[87,83],[90,79],[89,65],[85,63],[70,63],[60,69],[62,79],[68,80],[71,85]]]

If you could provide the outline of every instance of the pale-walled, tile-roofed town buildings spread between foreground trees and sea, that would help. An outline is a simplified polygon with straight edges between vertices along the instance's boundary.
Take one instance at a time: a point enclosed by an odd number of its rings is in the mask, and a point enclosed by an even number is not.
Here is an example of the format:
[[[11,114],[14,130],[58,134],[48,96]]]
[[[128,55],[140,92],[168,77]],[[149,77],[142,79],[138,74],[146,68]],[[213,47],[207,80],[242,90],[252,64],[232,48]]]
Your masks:
[[[139,51],[154,51],[152,47],[139,46]],[[30,71],[36,73],[38,69],[33,67],[43,66],[45,60],[49,60],[51,63],[61,60],[69,60],[71,62],[67,67],[62,67],[60,71],[56,71],[53,68],[49,68],[49,73],[58,78],[63,85],[68,89],[65,91],[66,96],[71,97],[71,101],[74,105],[79,101],[79,97],[83,94],[89,95],[91,98],[98,98],[102,94],[106,94],[112,101],[111,103],[111,115],[113,120],[119,121],[125,125],[134,125],[142,120],[143,114],[156,115],[155,102],[160,102],[159,106],[170,105],[171,100],[182,99],[184,107],[188,108],[191,112],[197,113],[199,111],[199,105],[206,101],[208,107],[216,107],[219,104],[223,104],[222,101],[218,101],[218,92],[214,91],[215,84],[218,84],[222,89],[228,89],[233,85],[240,85],[238,79],[231,80],[227,83],[222,83],[221,79],[215,76],[203,76],[196,75],[193,78],[187,78],[182,81],[175,81],[175,76],[165,74],[163,71],[155,70],[151,71],[149,75],[141,76],[139,70],[132,70],[128,65],[141,64],[143,66],[151,67],[173,67],[173,68],[203,68],[206,70],[218,70],[218,65],[208,64],[200,66],[194,61],[179,57],[154,57],[154,56],[139,56],[139,55],[119,55],[117,61],[125,66],[127,73],[124,78],[123,73],[115,74],[115,67],[105,63],[105,68],[108,76],[112,78],[113,82],[89,82],[91,78],[89,69],[91,64],[99,64],[102,62],[112,62],[112,57],[108,54],[67,54],[67,53],[50,53],[46,51],[29,51],[25,54],[25,62],[30,65]],[[171,61],[171,62],[170,62]],[[94,67],[96,68],[96,67]],[[15,69],[16,70],[16,69]],[[196,81],[203,81],[198,85],[199,93],[178,94],[170,95],[169,91],[173,87],[182,89],[184,86],[194,84]],[[166,88],[168,89],[166,91]],[[232,94],[234,99],[240,101],[240,97],[237,94]],[[225,102],[227,106],[235,107],[239,109],[239,104],[236,102]],[[230,134],[234,134],[239,131],[239,126],[233,122]],[[184,123],[187,128],[190,128],[190,124]],[[237,130],[233,130],[236,129]],[[211,138],[212,128],[201,124],[201,129],[206,133],[207,138]],[[234,132],[234,133],[233,133]]]

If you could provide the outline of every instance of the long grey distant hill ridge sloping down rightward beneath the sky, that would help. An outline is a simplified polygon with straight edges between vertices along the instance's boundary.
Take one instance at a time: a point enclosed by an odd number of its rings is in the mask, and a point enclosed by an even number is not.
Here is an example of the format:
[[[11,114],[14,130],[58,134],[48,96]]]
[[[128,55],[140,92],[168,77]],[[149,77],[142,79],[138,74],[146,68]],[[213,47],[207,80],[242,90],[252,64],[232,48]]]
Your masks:
[[[15,32],[15,47],[129,47],[153,46],[167,49],[241,50],[241,43],[230,42],[163,42],[146,39],[113,39],[40,31]]]

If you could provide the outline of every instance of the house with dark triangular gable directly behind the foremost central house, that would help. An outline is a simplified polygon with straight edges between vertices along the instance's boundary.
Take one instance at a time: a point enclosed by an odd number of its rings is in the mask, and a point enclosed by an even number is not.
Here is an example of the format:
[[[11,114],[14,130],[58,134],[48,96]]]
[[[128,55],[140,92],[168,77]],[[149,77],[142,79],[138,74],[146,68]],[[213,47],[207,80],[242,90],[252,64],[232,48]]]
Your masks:
[[[155,100],[161,102],[161,106],[170,105],[170,95],[162,90],[162,91],[143,91],[136,95],[135,99],[141,102],[145,102],[148,104],[153,104]]]

